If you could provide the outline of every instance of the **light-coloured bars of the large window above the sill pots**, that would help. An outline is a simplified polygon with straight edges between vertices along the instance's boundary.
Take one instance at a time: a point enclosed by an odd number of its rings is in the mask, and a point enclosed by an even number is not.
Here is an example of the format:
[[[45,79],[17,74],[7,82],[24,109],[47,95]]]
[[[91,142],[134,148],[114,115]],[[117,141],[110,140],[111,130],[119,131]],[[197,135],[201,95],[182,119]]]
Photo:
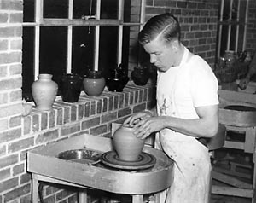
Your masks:
[[[34,37],[34,80],[38,78],[39,74],[39,49],[40,49],[40,27],[41,26],[67,26],[67,68],[66,72],[72,72],[72,36],[73,36],[73,26],[95,26],[95,55],[94,55],[94,69],[98,70],[99,62],[99,41],[100,41],[100,27],[101,26],[118,26],[118,61],[120,64],[122,61],[122,40],[123,40],[123,27],[124,26],[139,26],[141,30],[145,20],[145,3],[146,0],[140,0],[140,20],[138,22],[124,22],[124,4],[125,0],[119,0],[119,10],[117,20],[106,20],[101,19],[101,2],[104,0],[96,0],[96,15],[95,16],[84,16],[86,20],[83,19],[73,19],[73,0],[68,0],[68,18],[67,19],[49,19],[44,18],[44,0],[35,0],[34,7],[34,22],[23,22],[22,26],[34,27],[35,37]],[[137,1],[137,0],[132,0]],[[92,19],[93,17],[93,19]]]

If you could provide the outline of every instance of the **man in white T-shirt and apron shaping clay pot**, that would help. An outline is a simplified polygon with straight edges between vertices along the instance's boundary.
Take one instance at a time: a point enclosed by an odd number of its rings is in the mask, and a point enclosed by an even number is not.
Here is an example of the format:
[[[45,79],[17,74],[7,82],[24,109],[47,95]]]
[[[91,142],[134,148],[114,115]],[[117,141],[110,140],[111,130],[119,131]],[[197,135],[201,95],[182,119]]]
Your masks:
[[[174,160],[173,183],[161,202],[206,203],[211,164],[200,137],[218,132],[218,80],[200,56],[180,42],[180,26],[169,13],[154,16],[139,33],[139,42],[158,69],[157,105],[136,113],[124,125],[136,136],[156,136],[155,147]]]

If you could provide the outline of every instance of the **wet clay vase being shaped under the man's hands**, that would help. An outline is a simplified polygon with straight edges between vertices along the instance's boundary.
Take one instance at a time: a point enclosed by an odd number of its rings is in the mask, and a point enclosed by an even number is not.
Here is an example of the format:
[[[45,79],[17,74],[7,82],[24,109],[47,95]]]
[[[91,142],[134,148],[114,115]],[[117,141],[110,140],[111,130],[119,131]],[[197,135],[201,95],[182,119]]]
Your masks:
[[[120,160],[137,161],[143,151],[145,139],[137,138],[133,131],[133,128],[122,125],[113,133],[113,148]]]

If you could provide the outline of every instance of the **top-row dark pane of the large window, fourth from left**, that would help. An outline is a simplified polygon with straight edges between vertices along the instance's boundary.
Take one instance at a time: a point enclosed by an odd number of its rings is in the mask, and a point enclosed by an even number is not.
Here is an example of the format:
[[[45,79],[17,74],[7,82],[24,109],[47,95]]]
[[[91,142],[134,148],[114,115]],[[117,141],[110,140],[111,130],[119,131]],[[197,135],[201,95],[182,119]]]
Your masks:
[[[118,0],[104,0],[101,4],[101,19],[118,19]]]

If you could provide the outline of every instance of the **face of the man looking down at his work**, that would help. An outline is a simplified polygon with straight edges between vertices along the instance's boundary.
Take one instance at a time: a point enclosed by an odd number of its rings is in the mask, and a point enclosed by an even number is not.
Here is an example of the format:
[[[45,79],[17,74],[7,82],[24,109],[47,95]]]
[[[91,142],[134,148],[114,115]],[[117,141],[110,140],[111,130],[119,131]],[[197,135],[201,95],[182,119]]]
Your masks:
[[[144,45],[145,51],[150,55],[150,62],[158,68],[160,72],[166,72],[174,66],[175,52],[172,42],[166,43],[162,38],[155,38]]]

